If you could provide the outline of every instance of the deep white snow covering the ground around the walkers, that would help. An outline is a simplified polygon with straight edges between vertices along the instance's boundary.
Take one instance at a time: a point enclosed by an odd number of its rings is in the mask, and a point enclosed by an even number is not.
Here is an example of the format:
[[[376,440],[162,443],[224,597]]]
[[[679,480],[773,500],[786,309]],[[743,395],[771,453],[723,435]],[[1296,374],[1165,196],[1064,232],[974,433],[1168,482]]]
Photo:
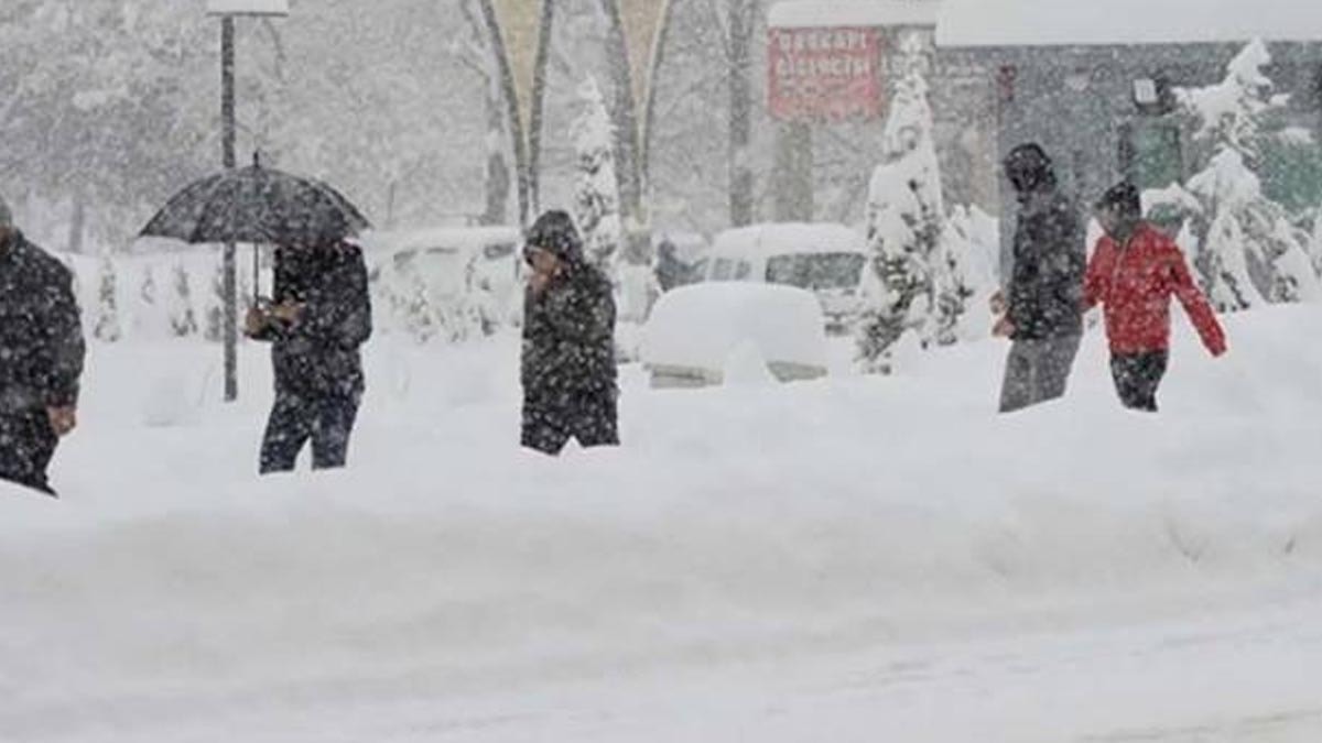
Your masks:
[[[0,740],[1322,736],[1322,309],[1179,323],[1159,416],[1097,332],[652,391],[517,443],[517,342],[370,346],[354,467],[259,481],[263,349],[98,345],[49,501],[0,487]],[[837,350],[845,368],[849,349]]]

